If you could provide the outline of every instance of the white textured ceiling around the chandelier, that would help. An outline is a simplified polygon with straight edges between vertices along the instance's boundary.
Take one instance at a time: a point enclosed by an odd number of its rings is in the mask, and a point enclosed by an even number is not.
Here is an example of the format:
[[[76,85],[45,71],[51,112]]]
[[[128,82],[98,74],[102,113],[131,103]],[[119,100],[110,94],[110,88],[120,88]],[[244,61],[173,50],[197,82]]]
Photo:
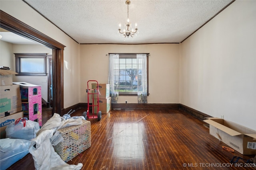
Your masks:
[[[180,43],[232,0],[131,0],[129,19],[138,35],[122,37],[125,0],[24,0],[80,44]]]

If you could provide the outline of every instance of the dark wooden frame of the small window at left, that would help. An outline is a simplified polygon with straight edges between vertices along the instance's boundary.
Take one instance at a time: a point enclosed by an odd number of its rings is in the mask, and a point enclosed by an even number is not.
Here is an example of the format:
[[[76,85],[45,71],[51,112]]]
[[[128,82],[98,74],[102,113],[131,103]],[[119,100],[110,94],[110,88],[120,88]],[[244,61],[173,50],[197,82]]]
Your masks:
[[[15,65],[16,65],[16,76],[46,76],[47,75],[47,53],[14,53],[15,55]],[[44,72],[21,72],[20,60],[22,58],[43,58],[44,59]]]

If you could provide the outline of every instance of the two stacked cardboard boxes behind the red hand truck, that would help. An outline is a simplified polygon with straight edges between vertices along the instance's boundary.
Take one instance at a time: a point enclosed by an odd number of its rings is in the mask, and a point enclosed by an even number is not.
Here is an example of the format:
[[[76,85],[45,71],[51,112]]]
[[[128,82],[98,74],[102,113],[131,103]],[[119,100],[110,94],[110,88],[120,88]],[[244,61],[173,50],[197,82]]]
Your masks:
[[[92,84],[92,89],[99,90],[99,111],[102,114],[107,114],[111,110],[111,97],[110,97],[110,85],[109,84]],[[94,104],[98,102],[97,94],[92,96],[94,98]],[[97,106],[94,106],[94,113],[97,113]]]

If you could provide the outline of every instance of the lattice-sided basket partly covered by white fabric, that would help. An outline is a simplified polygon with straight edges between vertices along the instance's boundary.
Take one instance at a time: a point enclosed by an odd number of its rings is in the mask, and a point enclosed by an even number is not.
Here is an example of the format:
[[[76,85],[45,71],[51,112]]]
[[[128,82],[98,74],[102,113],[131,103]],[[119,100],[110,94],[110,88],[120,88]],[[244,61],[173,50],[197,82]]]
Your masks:
[[[54,147],[62,160],[68,162],[91,146],[91,122],[82,120],[81,125],[58,130],[64,140]]]

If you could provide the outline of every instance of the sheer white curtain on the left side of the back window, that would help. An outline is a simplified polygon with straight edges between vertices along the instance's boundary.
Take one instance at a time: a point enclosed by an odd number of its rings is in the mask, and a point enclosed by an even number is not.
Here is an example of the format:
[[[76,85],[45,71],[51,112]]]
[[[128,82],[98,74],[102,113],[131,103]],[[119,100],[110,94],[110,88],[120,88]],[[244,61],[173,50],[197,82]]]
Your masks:
[[[117,103],[118,100],[118,91],[115,92],[115,78],[114,72],[119,72],[119,55],[110,54],[109,55],[109,65],[108,65],[108,83],[110,84],[110,96],[111,103]]]

